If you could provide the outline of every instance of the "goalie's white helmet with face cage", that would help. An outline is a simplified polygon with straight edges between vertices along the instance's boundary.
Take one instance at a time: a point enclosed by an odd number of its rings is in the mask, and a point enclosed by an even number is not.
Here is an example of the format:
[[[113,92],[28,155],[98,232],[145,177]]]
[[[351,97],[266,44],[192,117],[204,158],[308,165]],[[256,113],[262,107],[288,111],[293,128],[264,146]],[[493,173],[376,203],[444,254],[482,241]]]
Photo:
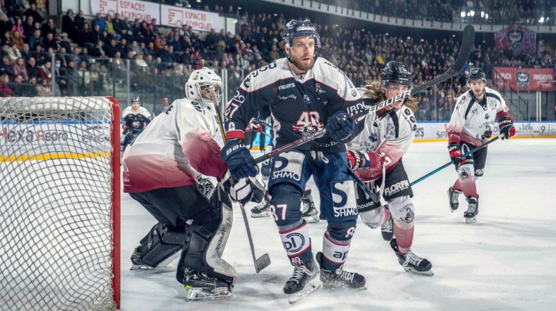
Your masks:
[[[186,82],[186,98],[192,101],[201,101],[201,103],[213,106],[213,99],[203,96],[201,89],[201,87],[211,85],[214,85],[216,102],[220,103],[222,99],[222,79],[220,76],[207,67],[195,70],[190,74],[189,80]],[[209,96],[213,96],[213,94]]]

